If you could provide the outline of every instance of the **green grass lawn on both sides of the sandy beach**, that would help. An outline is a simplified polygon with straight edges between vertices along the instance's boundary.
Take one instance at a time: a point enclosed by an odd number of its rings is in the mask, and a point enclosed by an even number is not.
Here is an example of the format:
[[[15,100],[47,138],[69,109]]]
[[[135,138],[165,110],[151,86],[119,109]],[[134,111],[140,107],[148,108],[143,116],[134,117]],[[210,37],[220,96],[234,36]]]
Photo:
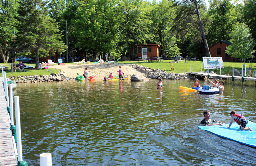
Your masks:
[[[142,66],[148,67],[148,68],[155,68],[155,69],[161,69],[166,72],[174,72],[174,73],[185,73],[185,72],[190,72],[190,63],[184,63],[184,61],[181,63],[174,63],[174,70],[170,70],[171,63],[169,63],[170,60],[163,60],[163,62],[156,63],[156,62],[135,62],[135,61],[118,61],[120,64],[140,64]],[[72,62],[65,63],[65,64],[73,64]],[[255,66],[256,63],[245,63],[246,68],[248,69],[249,67]],[[16,70],[12,74],[11,72],[11,63],[5,63],[3,64],[4,66],[9,67],[9,70],[6,72],[6,76],[24,76],[24,75],[51,75],[51,73],[58,73],[60,69],[50,69],[51,72],[47,72],[46,70],[35,70],[35,69],[26,69],[26,72],[20,72],[19,70]],[[35,66],[36,64],[25,64],[25,65],[33,65]],[[202,65],[202,71],[206,71],[206,69],[203,69],[203,61],[191,61],[191,72],[200,72],[201,71],[201,65]],[[223,62],[224,68],[221,69],[221,74],[230,74],[232,75],[232,65],[234,65],[234,70],[237,69],[240,71],[242,69],[242,63],[241,62]],[[253,73],[252,75],[255,76],[255,67],[252,67]],[[220,72],[220,69],[212,69],[210,71]],[[231,72],[230,72],[231,71]],[[2,70],[0,72],[0,76],[2,76]]]

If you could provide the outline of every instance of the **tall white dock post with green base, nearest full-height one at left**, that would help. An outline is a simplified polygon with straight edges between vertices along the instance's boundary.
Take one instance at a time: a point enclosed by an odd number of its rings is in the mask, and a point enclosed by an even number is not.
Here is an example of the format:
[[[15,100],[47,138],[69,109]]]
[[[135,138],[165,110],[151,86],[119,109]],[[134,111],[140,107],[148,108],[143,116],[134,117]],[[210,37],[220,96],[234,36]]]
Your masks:
[[[22,160],[19,96],[14,96],[14,102],[15,102],[15,116],[16,116],[15,119],[16,119],[16,126],[17,126],[17,151],[18,151],[17,166],[28,166],[27,162]]]

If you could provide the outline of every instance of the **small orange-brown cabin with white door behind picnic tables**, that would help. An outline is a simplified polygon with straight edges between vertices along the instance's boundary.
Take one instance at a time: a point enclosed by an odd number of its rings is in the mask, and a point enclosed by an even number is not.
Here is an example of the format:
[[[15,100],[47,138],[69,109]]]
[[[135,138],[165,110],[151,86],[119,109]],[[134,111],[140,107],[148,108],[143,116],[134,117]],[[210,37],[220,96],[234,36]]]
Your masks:
[[[137,44],[137,57],[149,58],[158,57],[159,44]]]

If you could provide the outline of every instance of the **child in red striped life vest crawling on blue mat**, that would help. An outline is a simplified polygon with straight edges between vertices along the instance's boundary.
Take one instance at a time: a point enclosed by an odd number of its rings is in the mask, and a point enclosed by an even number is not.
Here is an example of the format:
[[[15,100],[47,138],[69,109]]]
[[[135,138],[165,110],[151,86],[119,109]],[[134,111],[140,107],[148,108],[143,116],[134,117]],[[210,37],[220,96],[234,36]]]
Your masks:
[[[230,116],[232,117],[232,120],[229,123],[228,128],[232,125],[233,121],[235,121],[240,126],[240,129],[242,130],[252,130],[250,127],[246,127],[246,124],[248,123],[248,120],[241,114],[237,114],[236,111],[231,111]]]

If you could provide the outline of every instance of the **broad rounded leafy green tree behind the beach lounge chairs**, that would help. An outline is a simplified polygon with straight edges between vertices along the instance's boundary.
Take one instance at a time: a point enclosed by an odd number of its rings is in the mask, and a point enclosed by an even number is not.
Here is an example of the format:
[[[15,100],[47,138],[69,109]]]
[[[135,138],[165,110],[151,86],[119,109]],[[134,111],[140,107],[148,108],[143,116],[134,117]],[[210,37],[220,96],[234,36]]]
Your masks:
[[[93,57],[114,49],[112,41],[117,34],[119,16],[115,11],[115,0],[89,0],[77,10],[75,25],[77,46],[88,49]]]

